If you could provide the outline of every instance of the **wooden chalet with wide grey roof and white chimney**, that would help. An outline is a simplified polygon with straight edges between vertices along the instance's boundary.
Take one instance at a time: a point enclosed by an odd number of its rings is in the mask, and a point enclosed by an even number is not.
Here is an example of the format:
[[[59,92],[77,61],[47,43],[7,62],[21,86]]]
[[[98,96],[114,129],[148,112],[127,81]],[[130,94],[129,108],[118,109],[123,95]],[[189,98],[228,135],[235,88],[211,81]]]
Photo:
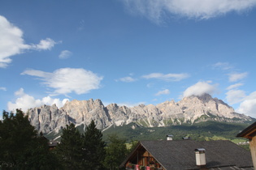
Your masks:
[[[249,151],[230,141],[141,141],[120,167],[126,169],[254,169]]]

